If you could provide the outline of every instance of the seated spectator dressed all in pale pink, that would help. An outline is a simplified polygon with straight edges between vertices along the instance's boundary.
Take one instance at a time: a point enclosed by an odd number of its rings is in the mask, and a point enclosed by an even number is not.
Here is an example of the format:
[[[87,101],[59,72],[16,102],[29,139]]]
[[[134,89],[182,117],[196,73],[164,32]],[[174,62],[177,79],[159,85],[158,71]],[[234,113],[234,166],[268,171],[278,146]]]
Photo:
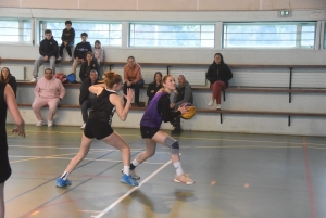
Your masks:
[[[48,127],[52,127],[58,104],[65,95],[63,85],[53,76],[52,70],[47,68],[45,70],[45,77],[37,81],[34,92],[35,100],[32,104],[32,108],[38,120],[36,126],[39,127],[46,124],[40,110],[49,105]]]

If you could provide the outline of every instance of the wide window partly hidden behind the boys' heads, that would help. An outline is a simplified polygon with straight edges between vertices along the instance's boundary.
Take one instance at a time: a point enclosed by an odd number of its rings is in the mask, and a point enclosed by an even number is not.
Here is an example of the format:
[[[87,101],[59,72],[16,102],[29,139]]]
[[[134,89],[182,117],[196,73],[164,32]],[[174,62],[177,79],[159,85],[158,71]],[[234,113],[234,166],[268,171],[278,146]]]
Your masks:
[[[62,30],[65,28],[65,21],[41,21],[39,39],[45,38],[45,30],[51,29],[54,39],[61,43]],[[122,24],[121,23],[95,23],[95,22],[74,22],[72,27],[75,29],[75,44],[82,41],[80,34],[87,33],[92,47],[96,40],[100,40],[102,46],[122,44]]]

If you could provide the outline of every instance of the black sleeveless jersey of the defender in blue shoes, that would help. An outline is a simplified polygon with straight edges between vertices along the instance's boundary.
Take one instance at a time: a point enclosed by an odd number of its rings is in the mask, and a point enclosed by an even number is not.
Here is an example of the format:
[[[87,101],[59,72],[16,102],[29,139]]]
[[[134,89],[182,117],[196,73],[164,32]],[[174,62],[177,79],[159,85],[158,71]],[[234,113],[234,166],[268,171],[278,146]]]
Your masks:
[[[103,89],[103,91],[97,95],[92,102],[92,106],[88,116],[88,119],[96,119],[99,121],[112,123],[112,117],[115,112],[115,106],[110,102],[110,94],[117,94],[116,91]]]

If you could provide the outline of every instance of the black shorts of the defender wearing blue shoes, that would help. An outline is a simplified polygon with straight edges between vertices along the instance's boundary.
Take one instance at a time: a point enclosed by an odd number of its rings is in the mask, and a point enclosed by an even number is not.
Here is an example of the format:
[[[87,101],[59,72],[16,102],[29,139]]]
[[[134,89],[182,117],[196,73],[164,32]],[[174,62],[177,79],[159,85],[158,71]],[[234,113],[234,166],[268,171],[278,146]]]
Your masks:
[[[113,133],[113,129],[109,125],[109,120],[99,121],[97,119],[87,119],[84,134],[88,139],[96,138],[97,140],[104,139]]]

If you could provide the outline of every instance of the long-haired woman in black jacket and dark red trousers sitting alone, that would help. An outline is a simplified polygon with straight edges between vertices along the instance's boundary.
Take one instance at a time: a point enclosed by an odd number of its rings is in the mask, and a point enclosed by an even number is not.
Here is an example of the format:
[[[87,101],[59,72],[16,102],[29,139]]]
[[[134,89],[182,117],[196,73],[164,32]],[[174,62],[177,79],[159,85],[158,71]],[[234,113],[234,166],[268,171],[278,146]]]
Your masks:
[[[206,79],[211,82],[212,99],[209,106],[214,105],[216,100],[216,110],[221,110],[221,92],[228,87],[228,80],[233,78],[233,73],[227,64],[224,63],[221,53],[214,55],[214,62],[209,67]]]

